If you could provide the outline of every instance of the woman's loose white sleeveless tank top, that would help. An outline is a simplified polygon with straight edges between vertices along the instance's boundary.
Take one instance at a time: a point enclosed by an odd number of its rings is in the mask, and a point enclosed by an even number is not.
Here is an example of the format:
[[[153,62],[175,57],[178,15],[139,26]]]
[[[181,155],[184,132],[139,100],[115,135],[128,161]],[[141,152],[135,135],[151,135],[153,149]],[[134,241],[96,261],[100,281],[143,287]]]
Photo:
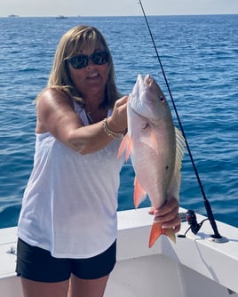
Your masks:
[[[89,124],[76,103],[75,112]],[[117,234],[121,140],[83,156],[50,132],[36,134],[34,167],[22,200],[18,236],[57,258],[89,258],[107,250]]]

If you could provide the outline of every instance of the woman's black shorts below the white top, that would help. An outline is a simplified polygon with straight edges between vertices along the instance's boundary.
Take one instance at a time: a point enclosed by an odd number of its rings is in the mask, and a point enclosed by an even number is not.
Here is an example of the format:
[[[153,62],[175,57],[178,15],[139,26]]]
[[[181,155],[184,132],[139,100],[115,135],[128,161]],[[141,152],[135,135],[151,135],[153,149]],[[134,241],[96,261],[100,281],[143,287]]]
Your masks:
[[[87,259],[54,258],[49,251],[28,245],[20,238],[17,248],[18,277],[54,283],[67,280],[71,273],[83,279],[107,276],[115,266],[116,241],[107,251]]]

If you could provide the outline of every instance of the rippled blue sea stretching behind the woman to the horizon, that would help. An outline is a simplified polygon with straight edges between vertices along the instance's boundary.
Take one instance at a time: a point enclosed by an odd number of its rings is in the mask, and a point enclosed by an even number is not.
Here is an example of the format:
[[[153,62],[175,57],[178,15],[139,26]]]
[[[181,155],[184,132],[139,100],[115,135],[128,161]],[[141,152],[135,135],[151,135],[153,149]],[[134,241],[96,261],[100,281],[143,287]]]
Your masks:
[[[214,217],[238,227],[238,15],[149,16],[148,23]],[[143,16],[0,18],[0,228],[17,224],[33,165],[34,100],[47,84],[60,36],[78,24],[106,36],[121,92],[131,92],[139,73],[155,77],[178,126]],[[133,178],[129,162],[119,210],[133,208]],[[180,205],[206,214],[187,152]]]

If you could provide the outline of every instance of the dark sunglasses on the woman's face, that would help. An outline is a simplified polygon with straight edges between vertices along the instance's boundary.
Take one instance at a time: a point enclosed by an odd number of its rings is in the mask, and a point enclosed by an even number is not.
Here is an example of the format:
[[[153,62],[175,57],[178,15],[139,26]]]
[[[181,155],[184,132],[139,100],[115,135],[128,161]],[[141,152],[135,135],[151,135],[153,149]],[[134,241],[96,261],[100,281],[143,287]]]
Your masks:
[[[85,68],[89,64],[89,60],[92,60],[96,65],[106,64],[109,60],[109,52],[107,51],[97,51],[93,52],[90,56],[85,54],[79,54],[75,57],[66,59],[69,60],[70,64],[75,69]]]

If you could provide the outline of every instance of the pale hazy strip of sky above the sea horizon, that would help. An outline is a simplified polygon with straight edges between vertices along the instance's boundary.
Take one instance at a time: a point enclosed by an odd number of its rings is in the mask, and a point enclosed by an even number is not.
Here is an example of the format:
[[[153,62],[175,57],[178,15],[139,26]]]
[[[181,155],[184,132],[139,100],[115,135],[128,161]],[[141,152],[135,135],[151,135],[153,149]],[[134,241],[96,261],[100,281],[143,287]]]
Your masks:
[[[238,0],[141,0],[147,15],[238,14]],[[139,0],[0,0],[0,17],[141,15]]]

